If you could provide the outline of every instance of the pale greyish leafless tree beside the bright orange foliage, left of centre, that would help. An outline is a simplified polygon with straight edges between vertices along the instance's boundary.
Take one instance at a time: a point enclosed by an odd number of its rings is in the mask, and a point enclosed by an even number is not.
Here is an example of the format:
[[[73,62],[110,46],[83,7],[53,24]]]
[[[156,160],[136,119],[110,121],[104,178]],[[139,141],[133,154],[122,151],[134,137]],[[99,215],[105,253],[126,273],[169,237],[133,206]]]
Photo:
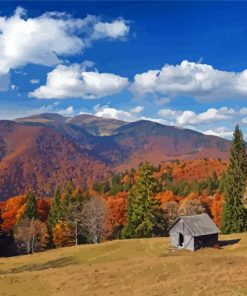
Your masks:
[[[80,217],[80,228],[94,244],[100,243],[104,233],[107,207],[100,197],[92,197],[84,206]]]

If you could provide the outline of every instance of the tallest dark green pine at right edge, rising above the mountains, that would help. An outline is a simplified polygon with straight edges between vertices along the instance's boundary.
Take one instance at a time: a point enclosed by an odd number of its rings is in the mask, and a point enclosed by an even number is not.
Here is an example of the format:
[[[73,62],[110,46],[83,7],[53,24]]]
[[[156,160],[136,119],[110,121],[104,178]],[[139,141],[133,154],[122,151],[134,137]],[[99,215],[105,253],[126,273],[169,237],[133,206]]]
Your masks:
[[[225,201],[222,211],[223,233],[243,232],[247,229],[246,209],[242,204],[247,176],[247,157],[243,135],[236,125],[226,172]]]

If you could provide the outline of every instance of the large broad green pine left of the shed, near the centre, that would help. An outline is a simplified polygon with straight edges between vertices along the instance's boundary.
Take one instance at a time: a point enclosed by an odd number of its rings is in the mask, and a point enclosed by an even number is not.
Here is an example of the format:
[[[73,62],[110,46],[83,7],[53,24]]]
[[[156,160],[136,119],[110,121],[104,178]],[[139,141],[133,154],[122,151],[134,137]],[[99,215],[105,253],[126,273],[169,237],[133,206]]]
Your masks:
[[[139,178],[128,198],[128,223],[123,230],[126,238],[151,237],[164,231],[159,202],[154,198],[158,182],[153,173],[148,162],[139,168]]]

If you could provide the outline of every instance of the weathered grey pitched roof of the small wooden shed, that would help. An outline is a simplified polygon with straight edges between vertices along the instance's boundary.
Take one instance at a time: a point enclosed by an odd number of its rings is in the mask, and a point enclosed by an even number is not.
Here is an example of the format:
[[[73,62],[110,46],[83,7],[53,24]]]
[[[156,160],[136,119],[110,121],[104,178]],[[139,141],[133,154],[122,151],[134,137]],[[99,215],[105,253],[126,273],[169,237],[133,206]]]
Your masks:
[[[184,224],[189,228],[192,235],[194,236],[215,234],[220,232],[220,230],[214,224],[213,220],[208,216],[208,214],[180,216],[169,228],[169,231],[177,224],[180,219],[183,220]]]

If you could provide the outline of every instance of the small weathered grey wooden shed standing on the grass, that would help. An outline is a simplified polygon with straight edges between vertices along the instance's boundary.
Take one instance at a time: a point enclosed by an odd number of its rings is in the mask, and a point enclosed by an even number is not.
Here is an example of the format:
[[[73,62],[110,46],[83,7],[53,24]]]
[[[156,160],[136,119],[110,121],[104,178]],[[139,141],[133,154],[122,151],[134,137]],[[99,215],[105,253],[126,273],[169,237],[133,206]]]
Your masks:
[[[171,244],[191,251],[216,245],[219,232],[207,214],[180,216],[169,228]]]

